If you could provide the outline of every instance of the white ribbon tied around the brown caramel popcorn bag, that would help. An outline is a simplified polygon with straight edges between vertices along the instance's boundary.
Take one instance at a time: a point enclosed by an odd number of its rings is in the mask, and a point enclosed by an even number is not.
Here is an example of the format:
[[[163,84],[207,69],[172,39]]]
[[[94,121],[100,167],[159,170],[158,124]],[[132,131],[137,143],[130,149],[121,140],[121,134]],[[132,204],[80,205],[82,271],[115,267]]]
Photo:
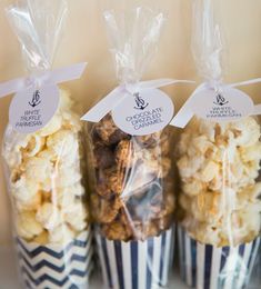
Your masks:
[[[102,100],[100,100],[94,107],[92,107],[81,120],[99,122],[106,117],[111,110],[113,110],[122,100],[124,100],[130,94],[135,92],[141,92],[148,89],[159,89],[175,83],[194,83],[191,80],[178,80],[178,79],[155,79],[149,81],[141,81],[137,84],[124,84],[117,87],[109,94],[107,94]]]

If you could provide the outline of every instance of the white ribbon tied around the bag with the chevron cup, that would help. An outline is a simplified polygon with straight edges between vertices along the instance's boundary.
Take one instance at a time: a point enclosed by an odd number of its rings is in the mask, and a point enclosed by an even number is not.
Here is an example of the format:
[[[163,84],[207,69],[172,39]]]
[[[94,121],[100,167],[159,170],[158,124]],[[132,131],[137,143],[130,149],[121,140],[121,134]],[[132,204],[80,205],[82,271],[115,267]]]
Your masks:
[[[59,84],[66,81],[79,79],[86,70],[87,63],[78,63],[67,68],[46,71],[39,76],[18,78],[0,83],[0,98],[16,93],[32,87],[39,88],[48,84]]]

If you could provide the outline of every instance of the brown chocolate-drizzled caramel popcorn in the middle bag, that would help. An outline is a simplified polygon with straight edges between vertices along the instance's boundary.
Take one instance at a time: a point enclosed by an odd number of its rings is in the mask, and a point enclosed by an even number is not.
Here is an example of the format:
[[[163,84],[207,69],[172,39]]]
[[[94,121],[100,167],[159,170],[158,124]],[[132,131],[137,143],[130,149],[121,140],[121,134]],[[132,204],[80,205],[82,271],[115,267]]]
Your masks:
[[[122,132],[110,114],[91,126],[91,208],[110,240],[145,240],[169,229],[174,211],[170,134]]]

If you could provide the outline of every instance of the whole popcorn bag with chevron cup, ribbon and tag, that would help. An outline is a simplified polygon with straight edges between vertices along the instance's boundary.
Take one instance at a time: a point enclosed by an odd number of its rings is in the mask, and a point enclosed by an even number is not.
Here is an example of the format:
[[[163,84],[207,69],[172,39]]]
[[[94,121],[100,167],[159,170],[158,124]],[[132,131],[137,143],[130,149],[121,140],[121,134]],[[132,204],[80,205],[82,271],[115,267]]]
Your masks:
[[[72,94],[58,89],[86,63],[50,70],[67,9],[66,1],[51,0],[7,9],[30,73],[0,84],[0,96],[17,92],[2,157],[27,289],[87,288],[92,266],[82,124]]]

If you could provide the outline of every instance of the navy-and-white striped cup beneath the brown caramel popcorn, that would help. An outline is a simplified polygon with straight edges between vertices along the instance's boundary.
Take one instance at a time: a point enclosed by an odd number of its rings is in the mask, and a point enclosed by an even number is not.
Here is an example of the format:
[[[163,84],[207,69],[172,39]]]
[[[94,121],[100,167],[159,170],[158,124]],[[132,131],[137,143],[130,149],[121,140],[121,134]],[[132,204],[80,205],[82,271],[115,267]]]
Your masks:
[[[110,241],[97,233],[104,288],[158,289],[168,285],[174,229],[145,241]]]

